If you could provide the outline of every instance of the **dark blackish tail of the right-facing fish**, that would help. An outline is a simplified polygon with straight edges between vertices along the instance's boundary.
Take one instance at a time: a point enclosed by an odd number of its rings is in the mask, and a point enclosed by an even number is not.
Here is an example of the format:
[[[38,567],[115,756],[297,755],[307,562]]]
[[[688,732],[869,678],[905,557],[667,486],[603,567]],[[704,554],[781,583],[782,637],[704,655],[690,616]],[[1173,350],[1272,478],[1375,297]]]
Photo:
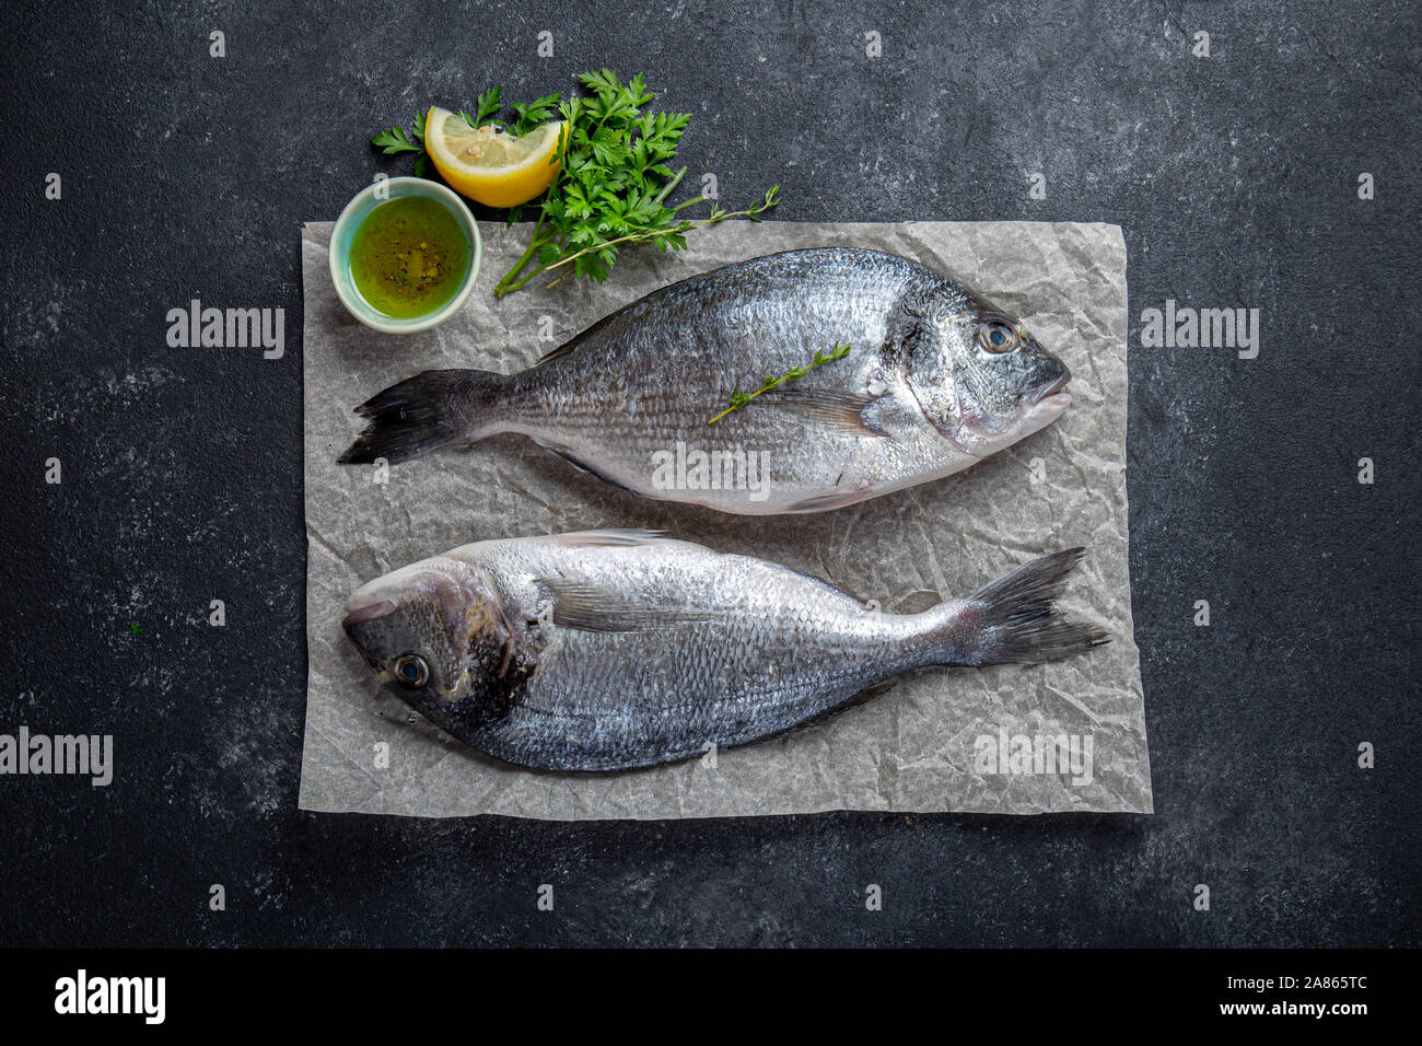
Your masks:
[[[425,370],[392,384],[356,408],[368,424],[337,463],[395,464],[481,440],[491,433],[503,380],[488,370]]]

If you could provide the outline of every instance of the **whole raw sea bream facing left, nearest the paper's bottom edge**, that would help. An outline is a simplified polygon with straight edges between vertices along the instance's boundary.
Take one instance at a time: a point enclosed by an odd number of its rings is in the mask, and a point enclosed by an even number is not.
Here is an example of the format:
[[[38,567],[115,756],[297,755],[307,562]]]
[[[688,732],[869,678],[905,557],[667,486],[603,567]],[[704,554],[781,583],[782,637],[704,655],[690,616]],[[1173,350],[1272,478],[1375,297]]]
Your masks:
[[[383,685],[464,743],[522,767],[627,770],[784,734],[929,665],[1103,643],[1054,609],[1081,555],[896,615],[647,531],[482,541],[364,585],[343,628]]]

